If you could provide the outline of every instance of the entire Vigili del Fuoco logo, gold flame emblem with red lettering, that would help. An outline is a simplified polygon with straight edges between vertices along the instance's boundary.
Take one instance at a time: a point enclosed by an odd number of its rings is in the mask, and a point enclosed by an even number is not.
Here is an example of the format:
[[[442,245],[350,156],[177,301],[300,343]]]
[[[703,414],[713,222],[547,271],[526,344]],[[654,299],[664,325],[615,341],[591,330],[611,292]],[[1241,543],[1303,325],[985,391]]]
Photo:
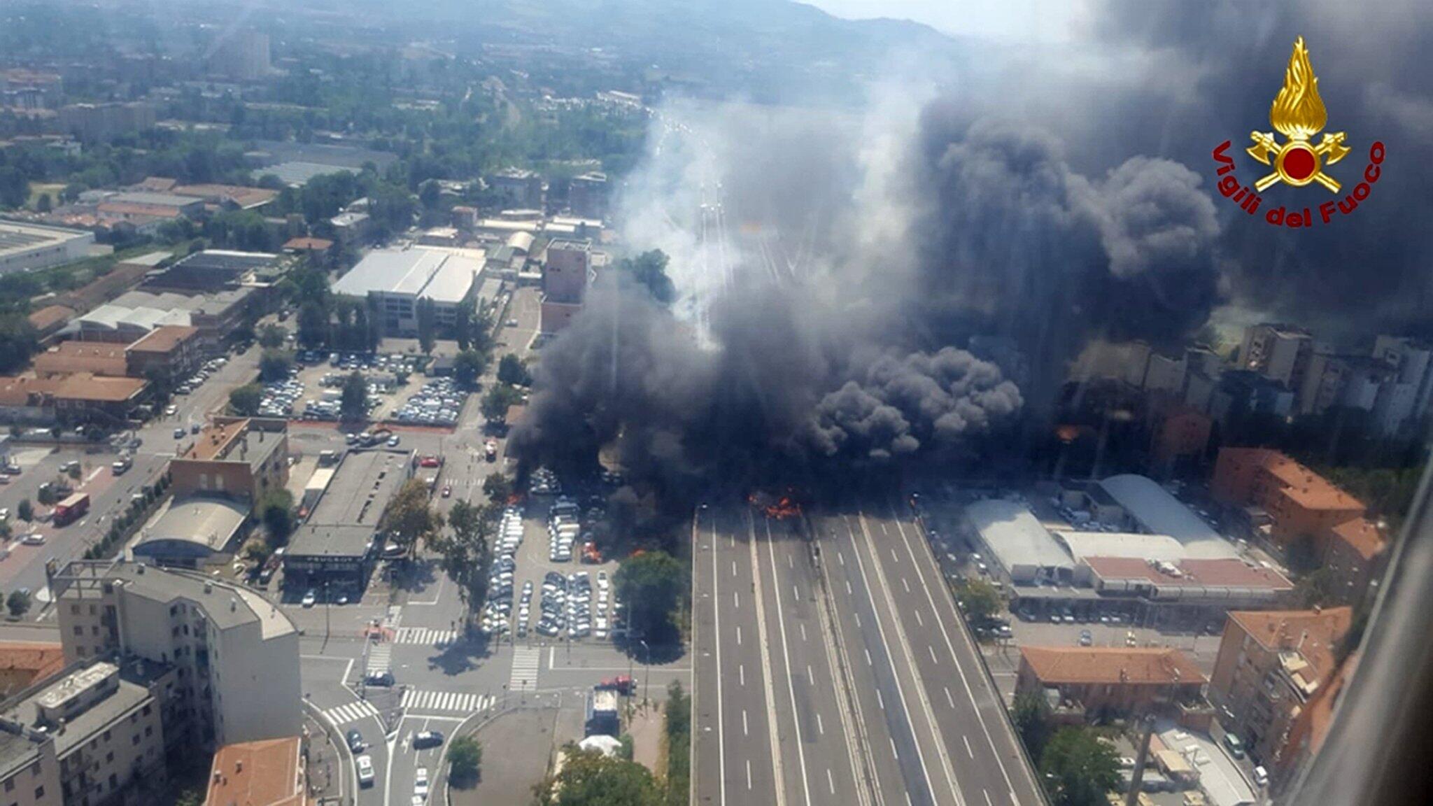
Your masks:
[[[1283,182],[1293,188],[1317,184],[1336,196],[1343,191],[1343,185],[1327,174],[1324,168],[1337,163],[1351,151],[1344,145],[1346,132],[1324,132],[1324,138],[1314,145],[1313,138],[1323,132],[1328,123],[1328,110],[1324,100],[1318,98],[1318,77],[1308,62],[1308,49],[1304,47],[1304,37],[1294,40],[1294,53],[1288,57],[1288,69],[1284,70],[1284,86],[1274,98],[1274,105],[1268,110],[1268,122],[1274,131],[1284,135],[1284,142],[1271,132],[1251,132],[1254,145],[1244,151],[1271,166],[1274,171],[1254,182],[1254,189],[1240,185],[1234,176],[1234,158],[1230,156],[1232,143],[1224,141],[1214,149],[1214,161],[1218,163],[1219,194],[1240,205],[1240,208],[1254,215],[1258,212],[1264,198],[1264,191]],[[1330,224],[1334,212],[1348,215],[1358,208],[1358,204],[1369,198],[1373,185],[1379,181],[1384,158],[1381,142],[1369,146],[1369,165],[1363,171],[1363,181],[1343,195],[1320,202],[1317,221]],[[1287,209],[1280,205],[1264,214],[1264,221],[1275,227],[1313,227],[1315,217],[1310,208]]]

